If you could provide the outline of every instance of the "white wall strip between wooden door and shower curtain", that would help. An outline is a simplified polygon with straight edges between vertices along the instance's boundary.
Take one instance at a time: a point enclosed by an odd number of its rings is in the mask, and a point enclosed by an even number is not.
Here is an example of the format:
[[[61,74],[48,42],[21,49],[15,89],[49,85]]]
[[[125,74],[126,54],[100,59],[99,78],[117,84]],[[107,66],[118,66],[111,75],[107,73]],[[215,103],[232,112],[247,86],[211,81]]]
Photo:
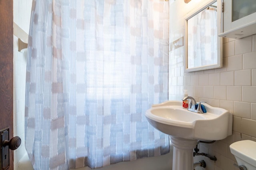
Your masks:
[[[13,1],[13,123],[14,136],[21,138],[21,145],[14,150],[14,170],[18,169],[18,162],[26,153],[24,146],[24,109],[25,109],[25,80],[26,80],[26,56],[18,51],[18,38],[28,40],[30,12],[32,0]]]

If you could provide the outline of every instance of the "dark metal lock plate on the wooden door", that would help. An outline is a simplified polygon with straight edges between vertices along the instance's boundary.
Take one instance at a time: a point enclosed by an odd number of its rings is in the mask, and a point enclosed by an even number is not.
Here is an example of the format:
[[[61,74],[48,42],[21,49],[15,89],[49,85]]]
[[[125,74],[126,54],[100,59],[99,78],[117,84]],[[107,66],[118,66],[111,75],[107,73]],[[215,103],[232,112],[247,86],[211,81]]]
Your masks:
[[[3,146],[4,141],[9,141],[9,128],[0,129],[0,170],[7,170],[9,163],[9,146]]]

